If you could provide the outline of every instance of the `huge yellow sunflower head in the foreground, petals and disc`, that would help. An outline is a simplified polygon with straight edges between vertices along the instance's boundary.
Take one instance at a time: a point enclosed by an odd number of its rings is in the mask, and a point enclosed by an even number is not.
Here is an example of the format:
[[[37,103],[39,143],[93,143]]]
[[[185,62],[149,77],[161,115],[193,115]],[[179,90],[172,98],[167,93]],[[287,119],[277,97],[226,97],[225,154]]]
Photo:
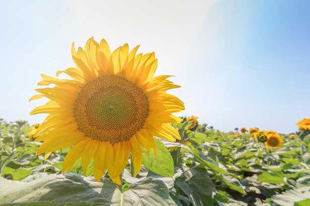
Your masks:
[[[111,52],[105,40],[93,38],[77,52],[72,43],[71,54],[76,68],[56,72],[72,79],[57,79],[42,75],[41,94],[30,100],[47,97],[31,115],[49,114],[34,136],[44,141],[37,155],[48,156],[64,147],[71,147],[63,161],[63,172],[82,159],[82,168],[94,159],[94,177],[100,181],[107,170],[110,178],[120,184],[120,174],[132,158],[134,175],[142,165],[142,148],[156,150],[154,136],[175,141],[179,132],[170,123],[181,118],[172,113],[184,110],[183,102],[166,93],[180,87],[167,80],[168,75],[156,76],[155,53],[136,54],[139,45],[129,51],[128,44]]]

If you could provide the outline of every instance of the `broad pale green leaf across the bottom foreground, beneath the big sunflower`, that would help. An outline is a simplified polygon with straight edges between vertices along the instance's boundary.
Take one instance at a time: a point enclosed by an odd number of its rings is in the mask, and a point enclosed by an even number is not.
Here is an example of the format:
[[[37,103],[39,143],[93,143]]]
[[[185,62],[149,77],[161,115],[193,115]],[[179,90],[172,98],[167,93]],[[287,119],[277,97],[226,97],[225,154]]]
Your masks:
[[[43,206],[64,203],[63,206],[71,206],[69,203],[78,206],[177,206],[171,199],[166,185],[154,178],[132,184],[124,193],[105,178],[96,182],[93,177],[77,174],[51,174],[30,182],[1,178],[0,185],[0,204],[6,205],[22,203],[21,206],[30,206],[25,203],[40,202]],[[47,201],[51,202],[51,205],[46,203]]]

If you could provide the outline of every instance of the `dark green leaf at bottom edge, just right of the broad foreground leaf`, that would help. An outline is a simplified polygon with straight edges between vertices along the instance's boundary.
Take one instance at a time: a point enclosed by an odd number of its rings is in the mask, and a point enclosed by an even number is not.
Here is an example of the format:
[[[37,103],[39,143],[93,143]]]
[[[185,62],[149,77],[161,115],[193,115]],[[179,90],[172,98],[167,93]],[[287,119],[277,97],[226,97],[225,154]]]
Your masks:
[[[174,183],[188,196],[193,206],[212,205],[212,192],[216,189],[206,169],[185,167],[183,170],[186,171]]]

